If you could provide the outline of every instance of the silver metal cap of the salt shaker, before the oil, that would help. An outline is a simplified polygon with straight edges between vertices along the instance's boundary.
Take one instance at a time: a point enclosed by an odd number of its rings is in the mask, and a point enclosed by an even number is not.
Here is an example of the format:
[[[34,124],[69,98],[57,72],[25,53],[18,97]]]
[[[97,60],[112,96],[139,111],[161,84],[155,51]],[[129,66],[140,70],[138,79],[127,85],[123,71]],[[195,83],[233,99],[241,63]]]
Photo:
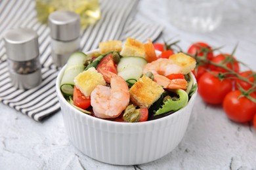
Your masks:
[[[80,35],[80,16],[68,10],[57,10],[49,15],[51,37],[58,41],[72,41]]]

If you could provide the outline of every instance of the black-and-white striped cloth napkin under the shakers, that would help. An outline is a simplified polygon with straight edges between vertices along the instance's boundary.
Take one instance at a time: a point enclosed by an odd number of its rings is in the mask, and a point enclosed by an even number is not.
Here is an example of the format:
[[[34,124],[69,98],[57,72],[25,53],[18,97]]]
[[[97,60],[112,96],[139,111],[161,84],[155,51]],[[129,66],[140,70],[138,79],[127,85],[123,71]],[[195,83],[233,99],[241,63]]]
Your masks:
[[[102,0],[100,9],[102,17],[95,25],[89,25],[81,33],[83,52],[98,48],[98,42],[122,40],[134,37],[146,42],[148,37],[154,41],[163,27],[157,24],[145,24],[134,20],[138,0]],[[125,8],[124,8],[125,7]],[[42,65],[43,82],[30,90],[17,90],[12,87],[8,73],[7,55],[3,34],[14,27],[29,27],[39,35],[39,52]],[[49,27],[37,22],[35,1],[2,0],[0,3],[0,101],[9,107],[28,115],[33,120],[43,118],[60,110],[56,97],[55,81],[59,68],[51,59],[51,37]]]

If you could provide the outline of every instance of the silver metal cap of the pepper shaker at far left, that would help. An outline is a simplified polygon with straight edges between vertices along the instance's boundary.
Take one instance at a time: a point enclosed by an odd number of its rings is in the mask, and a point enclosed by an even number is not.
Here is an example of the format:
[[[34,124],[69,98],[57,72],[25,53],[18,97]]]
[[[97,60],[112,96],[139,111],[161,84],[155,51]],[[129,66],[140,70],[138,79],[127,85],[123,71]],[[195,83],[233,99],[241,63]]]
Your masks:
[[[4,39],[7,56],[13,61],[28,61],[39,56],[38,35],[33,29],[10,29]]]

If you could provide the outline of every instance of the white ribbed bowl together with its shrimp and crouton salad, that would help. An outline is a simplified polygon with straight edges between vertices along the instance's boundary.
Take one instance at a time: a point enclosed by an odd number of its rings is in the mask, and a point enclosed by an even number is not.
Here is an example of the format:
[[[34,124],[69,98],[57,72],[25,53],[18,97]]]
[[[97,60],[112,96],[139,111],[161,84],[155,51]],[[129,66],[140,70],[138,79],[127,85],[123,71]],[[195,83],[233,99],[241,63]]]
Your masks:
[[[181,142],[196,100],[196,63],[182,53],[158,56],[152,42],[131,38],[70,56],[56,92],[76,148],[105,163],[138,165]]]

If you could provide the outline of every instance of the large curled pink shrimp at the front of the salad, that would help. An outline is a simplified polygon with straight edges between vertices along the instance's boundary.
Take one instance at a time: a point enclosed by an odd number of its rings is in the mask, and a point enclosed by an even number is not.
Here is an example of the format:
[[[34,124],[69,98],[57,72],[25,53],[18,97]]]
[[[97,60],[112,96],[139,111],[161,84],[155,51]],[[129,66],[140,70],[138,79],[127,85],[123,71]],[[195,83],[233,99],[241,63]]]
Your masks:
[[[91,106],[98,118],[117,118],[129,104],[129,88],[121,76],[111,78],[110,86],[98,85],[91,93]]]

